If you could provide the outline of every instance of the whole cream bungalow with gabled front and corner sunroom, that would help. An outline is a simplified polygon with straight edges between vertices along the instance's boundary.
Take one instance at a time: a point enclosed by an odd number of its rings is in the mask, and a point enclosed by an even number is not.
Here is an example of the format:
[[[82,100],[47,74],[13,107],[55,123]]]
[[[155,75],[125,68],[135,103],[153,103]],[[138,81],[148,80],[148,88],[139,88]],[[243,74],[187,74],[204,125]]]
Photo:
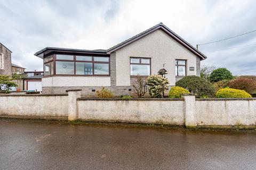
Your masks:
[[[206,56],[163,23],[109,49],[84,50],[46,47],[35,53],[44,60],[43,94],[64,94],[82,89],[95,95],[102,87],[115,95],[133,94],[137,75],[165,69],[170,86],[186,75],[200,75]]]

